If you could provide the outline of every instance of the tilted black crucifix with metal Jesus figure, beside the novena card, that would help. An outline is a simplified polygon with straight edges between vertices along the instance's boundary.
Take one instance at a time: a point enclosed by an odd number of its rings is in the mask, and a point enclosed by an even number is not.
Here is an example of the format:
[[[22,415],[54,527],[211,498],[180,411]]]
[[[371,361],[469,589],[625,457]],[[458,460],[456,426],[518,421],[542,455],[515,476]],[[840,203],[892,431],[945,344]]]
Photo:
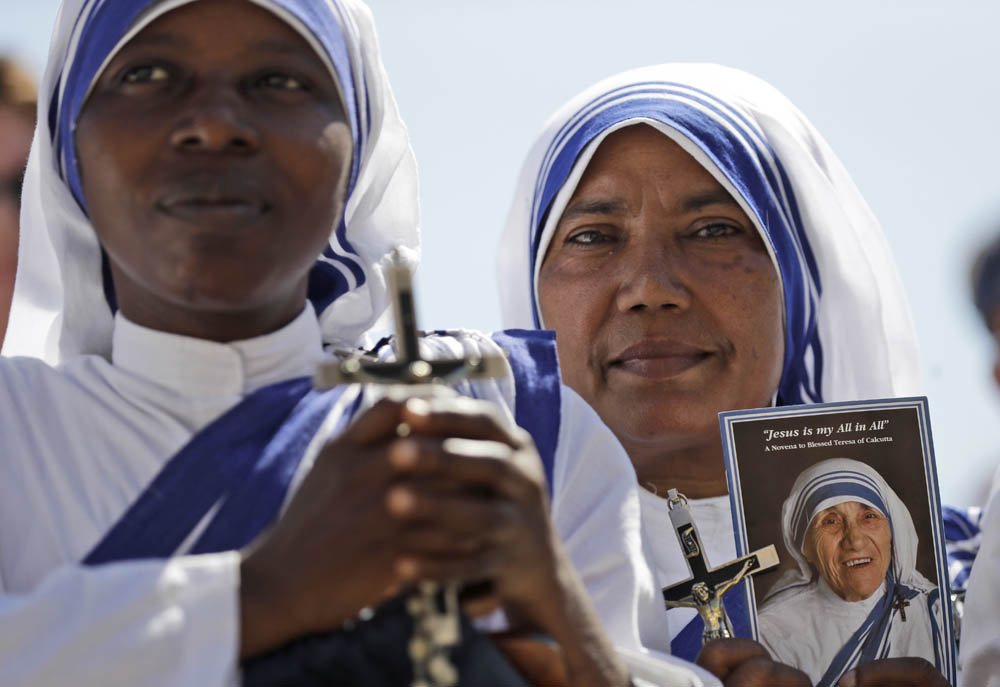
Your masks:
[[[687,559],[691,577],[664,587],[664,603],[667,608],[694,608],[698,611],[705,623],[701,635],[702,644],[734,636],[732,623],[722,604],[723,595],[746,576],[778,565],[778,552],[771,544],[717,568],[710,568],[701,545],[701,537],[688,509],[687,497],[677,493],[676,489],[671,489],[667,492],[667,506],[670,509],[670,522]]]

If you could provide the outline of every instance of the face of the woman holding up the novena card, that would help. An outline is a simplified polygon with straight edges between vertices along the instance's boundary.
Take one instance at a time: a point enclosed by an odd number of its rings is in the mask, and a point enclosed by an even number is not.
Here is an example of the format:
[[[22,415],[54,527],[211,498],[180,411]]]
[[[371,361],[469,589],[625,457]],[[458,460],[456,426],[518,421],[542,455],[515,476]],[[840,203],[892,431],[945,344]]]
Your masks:
[[[770,402],[778,277],[747,215],[655,129],[601,143],[539,273],[563,376],[633,456],[717,445],[718,413]]]

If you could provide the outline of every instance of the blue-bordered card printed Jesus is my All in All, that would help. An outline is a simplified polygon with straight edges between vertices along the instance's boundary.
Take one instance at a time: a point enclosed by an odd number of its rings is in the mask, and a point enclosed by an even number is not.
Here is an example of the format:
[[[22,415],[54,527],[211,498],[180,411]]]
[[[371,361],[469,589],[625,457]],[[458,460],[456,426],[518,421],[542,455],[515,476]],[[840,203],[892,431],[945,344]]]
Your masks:
[[[924,398],[720,414],[757,638],[817,687],[859,664],[927,659],[954,683],[937,473]]]

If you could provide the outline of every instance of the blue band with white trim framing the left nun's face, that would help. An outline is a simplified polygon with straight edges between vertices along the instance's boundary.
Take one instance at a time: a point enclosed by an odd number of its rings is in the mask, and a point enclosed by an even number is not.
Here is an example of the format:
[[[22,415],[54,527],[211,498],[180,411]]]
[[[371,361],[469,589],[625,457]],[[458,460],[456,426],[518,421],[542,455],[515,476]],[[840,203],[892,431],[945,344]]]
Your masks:
[[[132,39],[167,13],[194,2],[233,6],[245,3],[272,13],[294,29],[329,69],[358,147],[360,127],[349,28],[336,0],[86,0],[70,38],[50,115],[54,119],[50,122],[53,150],[63,178],[81,207],[85,203],[73,135],[90,91],[108,64]],[[349,187],[353,187],[357,177],[358,158],[356,154],[352,162]]]

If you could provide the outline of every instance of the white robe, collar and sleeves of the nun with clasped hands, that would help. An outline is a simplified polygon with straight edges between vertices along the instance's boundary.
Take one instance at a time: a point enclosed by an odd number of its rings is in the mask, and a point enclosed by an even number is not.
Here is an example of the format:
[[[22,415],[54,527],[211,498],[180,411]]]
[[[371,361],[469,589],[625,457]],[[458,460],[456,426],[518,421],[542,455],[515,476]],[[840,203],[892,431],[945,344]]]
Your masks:
[[[55,370],[0,359],[0,684],[236,681],[237,554],[78,562],[198,430],[256,389],[310,375],[324,355],[319,342],[310,307],[277,332],[233,344],[119,315],[112,363],[83,356]],[[509,412],[512,387],[505,379],[477,391]],[[365,396],[367,405],[376,394]],[[665,630],[642,558],[631,464],[575,393],[564,387],[562,397],[552,516],[609,636],[636,676],[718,684],[641,648]]]

